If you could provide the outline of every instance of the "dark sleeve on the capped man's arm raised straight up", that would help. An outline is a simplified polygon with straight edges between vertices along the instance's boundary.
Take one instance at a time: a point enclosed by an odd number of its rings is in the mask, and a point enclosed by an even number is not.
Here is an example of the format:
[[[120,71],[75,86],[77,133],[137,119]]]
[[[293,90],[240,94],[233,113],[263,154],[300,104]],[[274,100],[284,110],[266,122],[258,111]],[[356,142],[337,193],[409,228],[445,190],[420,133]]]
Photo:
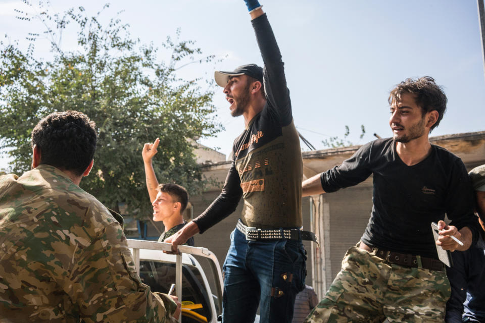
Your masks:
[[[286,87],[284,63],[266,14],[253,19],[256,40],[263,58],[263,79],[268,109],[274,109],[282,126],[292,122],[292,104]]]

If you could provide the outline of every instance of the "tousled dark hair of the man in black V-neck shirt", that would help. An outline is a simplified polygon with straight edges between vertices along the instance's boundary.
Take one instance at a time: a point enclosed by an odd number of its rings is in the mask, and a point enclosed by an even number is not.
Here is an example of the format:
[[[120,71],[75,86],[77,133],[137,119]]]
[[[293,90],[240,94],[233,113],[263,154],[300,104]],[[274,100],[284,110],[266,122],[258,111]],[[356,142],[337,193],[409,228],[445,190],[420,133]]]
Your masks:
[[[438,127],[445,114],[446,102],[448,101],[443,87],[436,84],[430,76],[423,76],[418,79],[407,78],[396,85],[389,94],[387,101],[391,105],[394,102],[399,102],[401,95],[404,93],[412,93],[416,96],[416,104],[421,106],[423,115],[429,111],[436,110],[438,112],[438,120],[431,126],[431,130]]]

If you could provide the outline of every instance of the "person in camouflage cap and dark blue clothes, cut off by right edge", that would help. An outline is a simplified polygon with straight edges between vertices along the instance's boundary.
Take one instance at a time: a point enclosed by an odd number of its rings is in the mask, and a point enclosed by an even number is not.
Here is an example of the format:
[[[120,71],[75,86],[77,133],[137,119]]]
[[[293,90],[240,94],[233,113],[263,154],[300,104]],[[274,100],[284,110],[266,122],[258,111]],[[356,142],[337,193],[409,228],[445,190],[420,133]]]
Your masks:
[[[485,165],[470,176],[476,197],[481,239],[463,252],[453,252],[453,267],[447,268],[451,297],[446,303],[446,322],[485,322]]]

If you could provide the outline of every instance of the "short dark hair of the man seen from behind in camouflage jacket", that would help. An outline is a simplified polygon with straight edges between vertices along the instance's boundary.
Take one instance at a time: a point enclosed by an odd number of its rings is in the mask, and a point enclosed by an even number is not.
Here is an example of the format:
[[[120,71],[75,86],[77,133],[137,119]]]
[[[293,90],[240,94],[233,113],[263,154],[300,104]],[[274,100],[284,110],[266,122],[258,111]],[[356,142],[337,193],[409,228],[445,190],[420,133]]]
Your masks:
[[[40,149],[40,164],[81,176],[96,150],[96,125],[80,112],[55,112],[32,130],[32,147]]]

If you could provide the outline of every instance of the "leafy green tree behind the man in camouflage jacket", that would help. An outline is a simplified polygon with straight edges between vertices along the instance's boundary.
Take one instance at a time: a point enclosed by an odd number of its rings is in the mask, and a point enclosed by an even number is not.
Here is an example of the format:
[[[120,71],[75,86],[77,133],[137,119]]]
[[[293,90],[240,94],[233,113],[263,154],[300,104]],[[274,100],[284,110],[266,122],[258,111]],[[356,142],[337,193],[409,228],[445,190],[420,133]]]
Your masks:
[[[102,25],[104,11],[89,17],[82,7],[51,14],[39,6],[39,14],[17,11],[26,23],[39,20],[45,26],[43,33],[29,34],[27,50],[18,41],[0,42],[0,153],[14,157],[11,170],[21,174],[30,168],[30,132],[42,117],[77,110],[95,121],[99,135],[94,168],[81,187],[105,205],[116,210],[124,202],[126,213],[137,217],[152,213],[141,148],[156,137],[159,181],[200,192],[205,179],[189,139],[213,136],[222,126],[215,121],[212,85],[202,89],[199,79],[180,79],[176,71],[214,57],[204,57],[192,41],[178,40],[177,30],[176,39],[167,37],[163,45],[171,59],[161,62],[157,48],[132,39],[119,18]],[[78,47],[68,51],[60,39],[70,24]],[[50,42],[51,59],[36,58],[39,39]]]

